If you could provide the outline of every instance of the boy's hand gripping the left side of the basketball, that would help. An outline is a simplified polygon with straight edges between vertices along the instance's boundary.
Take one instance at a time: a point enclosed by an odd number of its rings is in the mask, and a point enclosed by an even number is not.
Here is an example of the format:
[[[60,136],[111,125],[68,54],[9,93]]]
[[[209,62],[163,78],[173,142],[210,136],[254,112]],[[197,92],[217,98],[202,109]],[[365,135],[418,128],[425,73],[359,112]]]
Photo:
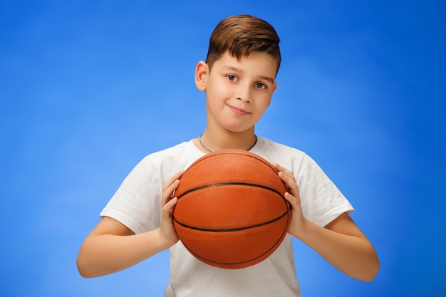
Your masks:
[[[177,197],[174,197],[174,192],[180,185],[182,173],[182,171],[177,172],[162,186],[160,236],[168,246],[172,246],[178,241],[177,231],[173,226],[172,212],[178,200]]]

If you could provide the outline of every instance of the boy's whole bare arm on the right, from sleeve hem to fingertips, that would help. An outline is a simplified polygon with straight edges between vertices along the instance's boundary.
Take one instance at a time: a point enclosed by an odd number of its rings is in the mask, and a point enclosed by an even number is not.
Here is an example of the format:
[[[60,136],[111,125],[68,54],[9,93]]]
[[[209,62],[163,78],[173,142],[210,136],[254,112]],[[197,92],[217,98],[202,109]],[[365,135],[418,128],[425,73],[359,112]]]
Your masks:
[[[292,207],[289,234],[311,247],[326,261],[348,276],[373,281],[379,270],[378,256],[370,241],[348,214],[341,214],[325,227],[305,219],[299,188],[292,172],[276,165],[279,177],[289,187],[285,198]]]

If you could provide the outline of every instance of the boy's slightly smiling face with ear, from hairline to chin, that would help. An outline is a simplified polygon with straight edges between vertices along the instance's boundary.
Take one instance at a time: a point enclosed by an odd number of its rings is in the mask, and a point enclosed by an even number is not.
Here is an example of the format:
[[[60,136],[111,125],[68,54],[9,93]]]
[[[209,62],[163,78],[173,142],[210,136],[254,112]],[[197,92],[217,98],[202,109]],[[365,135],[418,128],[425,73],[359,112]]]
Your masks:
[[[267,53],[254,52],[237,61],[225,53],[212,70],[197,65],[195,82],[206,90],[207,126],[231,132],[254,129],[276,89],[277,62]]]

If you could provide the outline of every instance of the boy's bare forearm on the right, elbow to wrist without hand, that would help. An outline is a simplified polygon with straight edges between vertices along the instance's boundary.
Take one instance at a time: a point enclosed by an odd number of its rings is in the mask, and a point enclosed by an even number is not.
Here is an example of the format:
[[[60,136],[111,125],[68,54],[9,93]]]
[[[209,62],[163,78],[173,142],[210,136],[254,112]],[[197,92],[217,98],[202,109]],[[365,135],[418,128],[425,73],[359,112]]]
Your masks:
[[[348,276],[373,281],[378,273],[378,256],[365,237],[341,234],[308,220],[304,229],[293,235]]]

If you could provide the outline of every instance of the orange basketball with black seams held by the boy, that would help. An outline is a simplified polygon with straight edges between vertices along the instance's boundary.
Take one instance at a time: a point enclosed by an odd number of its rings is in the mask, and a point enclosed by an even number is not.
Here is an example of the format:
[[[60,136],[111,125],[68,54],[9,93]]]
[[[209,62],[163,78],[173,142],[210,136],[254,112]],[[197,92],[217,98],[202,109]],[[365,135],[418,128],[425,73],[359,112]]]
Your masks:
[[[291,220],[286,186],[268,161],[244,150],[204,155],[185,170],[175,191],[173,224],[200,261],[241,269],[268,258]]]

